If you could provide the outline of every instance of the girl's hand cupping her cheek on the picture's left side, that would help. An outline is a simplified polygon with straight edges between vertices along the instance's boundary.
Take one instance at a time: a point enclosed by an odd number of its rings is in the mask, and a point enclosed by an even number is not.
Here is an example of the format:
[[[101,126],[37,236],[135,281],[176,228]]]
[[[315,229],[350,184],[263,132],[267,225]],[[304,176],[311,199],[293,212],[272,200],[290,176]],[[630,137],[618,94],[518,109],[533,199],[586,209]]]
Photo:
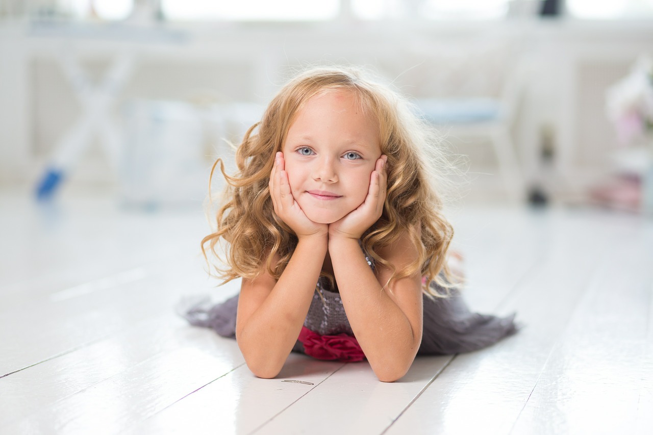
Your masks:
[[[328,225],[315,223],[308,219],[297,201],[295,201],[288,181],[288,174],[284,168],[283,153],[278,152],[274,157],[274,167],[272,167],[268,184],[274,212],[295,231],[298,238],[316,235],[326,236],[328,234]]]

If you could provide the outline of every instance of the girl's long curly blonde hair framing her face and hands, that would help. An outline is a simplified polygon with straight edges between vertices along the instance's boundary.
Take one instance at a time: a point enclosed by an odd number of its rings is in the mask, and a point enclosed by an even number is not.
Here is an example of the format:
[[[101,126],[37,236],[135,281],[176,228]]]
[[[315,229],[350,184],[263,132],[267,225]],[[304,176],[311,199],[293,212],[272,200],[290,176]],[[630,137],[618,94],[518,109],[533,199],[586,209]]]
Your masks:
[[[426,278],[424,292],[443,296],[430,283],[449,287],[446,253],[453,227],[441,212],[442,197],[438,194],[438,169],[448,165],[447,159],[438,149],[432,130],[415,116],[408,101],[358,69],[319,67],[298,74],[281,88],[261,121],[245,134],[236,150],[236,174],[227,174],[221,159],[215,161],[211,178],[219,165],[227,182],[225,202],[217,210],[215,232],[202,239],[202,253],[208,259],[210,251],[218,263],[227,265],[214,265],[224,282],[239,277],[253,279],[263,272],[263,264],[272,276],[281,276],[297,238],[272,206],[268,181],[274,155],[281,151],[287,131],[306,101],[321,93],[343,90],[353,92],[377,121],[381,153],[388,157],[383,214],[362,235],[362,248],[376,265],[392,268],[387,285],[420,272]],[[402,270],[394,270],[377,249],[396,242],[404,232],[417,247],[419,258]],[[216,250],[216,246],[221,249]],[[279,261],[274,263],[276,256]]]

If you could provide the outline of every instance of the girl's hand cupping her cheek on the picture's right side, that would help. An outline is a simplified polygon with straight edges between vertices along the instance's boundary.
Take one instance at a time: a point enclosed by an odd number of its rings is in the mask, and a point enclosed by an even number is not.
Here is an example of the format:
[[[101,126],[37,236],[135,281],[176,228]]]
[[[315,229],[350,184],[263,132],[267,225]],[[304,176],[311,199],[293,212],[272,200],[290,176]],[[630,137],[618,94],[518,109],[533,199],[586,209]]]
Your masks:
[[[352,210],[342,219],[328,226],[329,239],[345,237],[358,240],[368,228],[379,220],[383,212],[388,182],[385,170],[387,159],[386,155],[381,155],[376,161],[370,176],[370,188],[365,201],[356,210]]]

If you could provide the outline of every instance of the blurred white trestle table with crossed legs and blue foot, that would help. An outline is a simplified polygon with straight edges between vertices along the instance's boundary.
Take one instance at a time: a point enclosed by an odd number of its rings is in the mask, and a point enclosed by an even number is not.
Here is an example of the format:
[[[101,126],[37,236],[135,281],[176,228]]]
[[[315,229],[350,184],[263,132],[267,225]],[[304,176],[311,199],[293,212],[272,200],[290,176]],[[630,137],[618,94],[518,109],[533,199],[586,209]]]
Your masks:
[[[121,159],[122,138],[119,127],[112,121],[111,110],[135,70],[139,44],[170,44],[185,42],[184,33],[160,31],[148,27],[112,25],[74,25],[56,22],[34,22],[29,29],[31,37],[61,40],[57,61],[69,82],[82,110],[78,120],[59,138],[48,165],[37,185],[37,197],[50,199],[57,188],[74,170],[84,150],[97,136],[111,166],[117,169]],[[110,50],[110,65],[99,83],[95,83],[82,67],[77,50],[83,40],[117,44]],[[129,46],[120,46],[129,42]],[[144,52],[147,48],[140,48]]]

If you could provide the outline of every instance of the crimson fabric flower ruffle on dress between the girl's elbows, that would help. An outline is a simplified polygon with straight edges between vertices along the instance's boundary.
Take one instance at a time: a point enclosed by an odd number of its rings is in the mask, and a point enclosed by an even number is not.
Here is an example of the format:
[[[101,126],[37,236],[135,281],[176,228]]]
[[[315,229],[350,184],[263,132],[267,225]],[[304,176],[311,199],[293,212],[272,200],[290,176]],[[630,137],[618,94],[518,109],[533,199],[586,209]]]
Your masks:
[[[358,340],[344,333],[320,335],[307,327],[302,327],[298,340],[304,344],[306,355],[316,359],[343,362],[356,362],[365,359]]]

